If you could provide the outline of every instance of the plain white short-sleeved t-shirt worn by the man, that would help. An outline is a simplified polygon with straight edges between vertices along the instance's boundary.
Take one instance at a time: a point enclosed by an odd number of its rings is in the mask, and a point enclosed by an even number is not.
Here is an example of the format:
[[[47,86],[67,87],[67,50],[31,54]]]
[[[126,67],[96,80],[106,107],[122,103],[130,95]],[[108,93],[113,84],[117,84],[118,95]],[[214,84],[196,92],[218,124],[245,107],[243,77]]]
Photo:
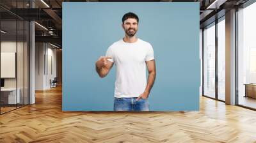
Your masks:
[[[108,48],[106,56],[116,65],[115,97],[140,96],[147,86],[145,61],[154,59],[152,45],[140,38],[134,43],[121,39]]]

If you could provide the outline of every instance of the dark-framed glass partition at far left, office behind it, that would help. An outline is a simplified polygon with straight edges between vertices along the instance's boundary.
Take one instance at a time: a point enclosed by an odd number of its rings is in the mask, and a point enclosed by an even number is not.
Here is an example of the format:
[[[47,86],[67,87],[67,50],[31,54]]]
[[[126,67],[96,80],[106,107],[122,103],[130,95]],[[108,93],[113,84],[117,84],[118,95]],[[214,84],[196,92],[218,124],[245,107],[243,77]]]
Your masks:
[[[12,1],[15,8],[25,8],[26,3]],[[4,114],[29,104],[29,22],[0,7],[0,30],[0,114]]]

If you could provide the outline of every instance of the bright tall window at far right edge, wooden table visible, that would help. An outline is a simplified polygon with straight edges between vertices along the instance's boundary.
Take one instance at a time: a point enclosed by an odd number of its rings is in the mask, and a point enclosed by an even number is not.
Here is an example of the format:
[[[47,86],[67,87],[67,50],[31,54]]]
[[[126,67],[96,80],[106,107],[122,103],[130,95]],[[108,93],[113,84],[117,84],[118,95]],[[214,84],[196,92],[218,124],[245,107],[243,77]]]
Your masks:
[[[237,11],[237,104],[256,109],[256,3]]]

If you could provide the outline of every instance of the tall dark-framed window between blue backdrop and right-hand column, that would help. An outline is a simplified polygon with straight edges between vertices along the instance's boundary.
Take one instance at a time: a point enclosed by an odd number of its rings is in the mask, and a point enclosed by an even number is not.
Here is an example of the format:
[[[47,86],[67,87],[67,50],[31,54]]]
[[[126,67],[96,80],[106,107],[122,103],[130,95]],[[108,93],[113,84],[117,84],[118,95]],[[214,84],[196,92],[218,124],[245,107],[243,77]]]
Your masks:
[[[203,96],[225,102],[225,16],[203,29]]]

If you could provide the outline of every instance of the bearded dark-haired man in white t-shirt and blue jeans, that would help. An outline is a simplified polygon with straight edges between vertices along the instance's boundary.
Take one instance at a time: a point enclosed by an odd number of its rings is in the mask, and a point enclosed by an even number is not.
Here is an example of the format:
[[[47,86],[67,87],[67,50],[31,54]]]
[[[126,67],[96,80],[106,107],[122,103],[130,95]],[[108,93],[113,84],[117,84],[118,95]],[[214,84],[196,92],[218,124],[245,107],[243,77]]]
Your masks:
[[[122,17],[125,36],[113,43],[106,56],[96,62],[100,77],[105,77],[116,65],[115,111],[148,111],[148,96],[156,79],[154,50],[150,43],[136,37],[139,18],[134,13]],[[146,64],[148,80],[146,78]]]

